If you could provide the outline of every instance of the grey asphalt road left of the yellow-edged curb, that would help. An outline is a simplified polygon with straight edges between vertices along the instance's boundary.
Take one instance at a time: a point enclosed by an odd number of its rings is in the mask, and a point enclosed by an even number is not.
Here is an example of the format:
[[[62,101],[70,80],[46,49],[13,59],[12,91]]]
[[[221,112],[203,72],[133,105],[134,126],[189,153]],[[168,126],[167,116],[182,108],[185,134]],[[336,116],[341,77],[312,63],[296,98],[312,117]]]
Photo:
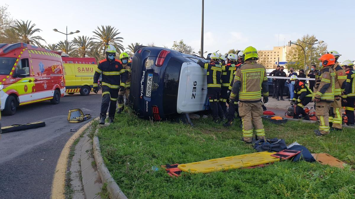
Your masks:
[[[2,116],[1,125],[44,121],[45,127],[1,134],[0,198],[50,198],[59,155],[74,132],[88,121],[69,123],[69,109],[80,108],[93,118],[99,116],[101,93],[69,95],[59,104],[49,101],[18,107],[15,115]]]

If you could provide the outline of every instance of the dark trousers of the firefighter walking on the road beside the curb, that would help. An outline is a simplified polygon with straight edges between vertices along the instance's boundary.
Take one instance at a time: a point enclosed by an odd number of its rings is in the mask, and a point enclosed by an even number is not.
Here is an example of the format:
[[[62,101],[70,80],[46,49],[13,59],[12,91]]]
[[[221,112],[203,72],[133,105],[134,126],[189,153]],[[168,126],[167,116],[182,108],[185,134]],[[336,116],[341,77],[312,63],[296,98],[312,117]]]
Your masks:
[[[107,109],[109,109],[109,117],[115,117],[118,92],[119,89],[110,89],[108,86],[102,86],[100,117],[106,118]]]

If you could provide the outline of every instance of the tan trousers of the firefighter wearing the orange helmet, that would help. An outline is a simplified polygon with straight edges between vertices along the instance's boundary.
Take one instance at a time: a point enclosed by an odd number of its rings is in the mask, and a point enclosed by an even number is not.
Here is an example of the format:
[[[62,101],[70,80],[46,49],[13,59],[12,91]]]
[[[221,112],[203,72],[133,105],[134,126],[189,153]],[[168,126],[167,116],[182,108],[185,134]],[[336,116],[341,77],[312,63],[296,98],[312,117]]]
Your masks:
[[[330,132],[329,127],[329,108],[331,102],[320,101],[316,102],[316,116],[319,120],[319,131],[323,135],[327,135]]]

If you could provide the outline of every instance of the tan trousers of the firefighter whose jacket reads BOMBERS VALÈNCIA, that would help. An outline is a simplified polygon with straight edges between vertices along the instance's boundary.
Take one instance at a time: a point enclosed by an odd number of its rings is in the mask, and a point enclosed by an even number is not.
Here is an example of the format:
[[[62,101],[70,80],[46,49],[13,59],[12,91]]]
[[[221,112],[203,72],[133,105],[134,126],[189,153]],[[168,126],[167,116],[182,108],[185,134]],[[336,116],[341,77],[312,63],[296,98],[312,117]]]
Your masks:
[[[258,140],[265,138],[264,125],[261,120],[262,105],[262,102],[239,102],[238,104],[243,124],[243,138],[246,142],[252,141],[253,130],[255,130]]]

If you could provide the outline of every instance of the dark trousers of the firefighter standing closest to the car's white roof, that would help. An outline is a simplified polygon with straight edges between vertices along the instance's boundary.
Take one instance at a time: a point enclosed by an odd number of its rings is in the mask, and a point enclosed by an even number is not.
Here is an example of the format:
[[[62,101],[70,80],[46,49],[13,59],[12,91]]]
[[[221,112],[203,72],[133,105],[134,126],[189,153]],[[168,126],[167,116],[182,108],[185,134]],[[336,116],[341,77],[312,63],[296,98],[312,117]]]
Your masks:
[[[224,113],[222,110],[222,107],[219,103],[219,94],[221,92],[221,89],[216,88],[216,89],[211,89],[207,88],[207,97],[209,101],[209,107],[211,108],[212,111],[212,116],[213,120],[218,120],[224,118]]]

